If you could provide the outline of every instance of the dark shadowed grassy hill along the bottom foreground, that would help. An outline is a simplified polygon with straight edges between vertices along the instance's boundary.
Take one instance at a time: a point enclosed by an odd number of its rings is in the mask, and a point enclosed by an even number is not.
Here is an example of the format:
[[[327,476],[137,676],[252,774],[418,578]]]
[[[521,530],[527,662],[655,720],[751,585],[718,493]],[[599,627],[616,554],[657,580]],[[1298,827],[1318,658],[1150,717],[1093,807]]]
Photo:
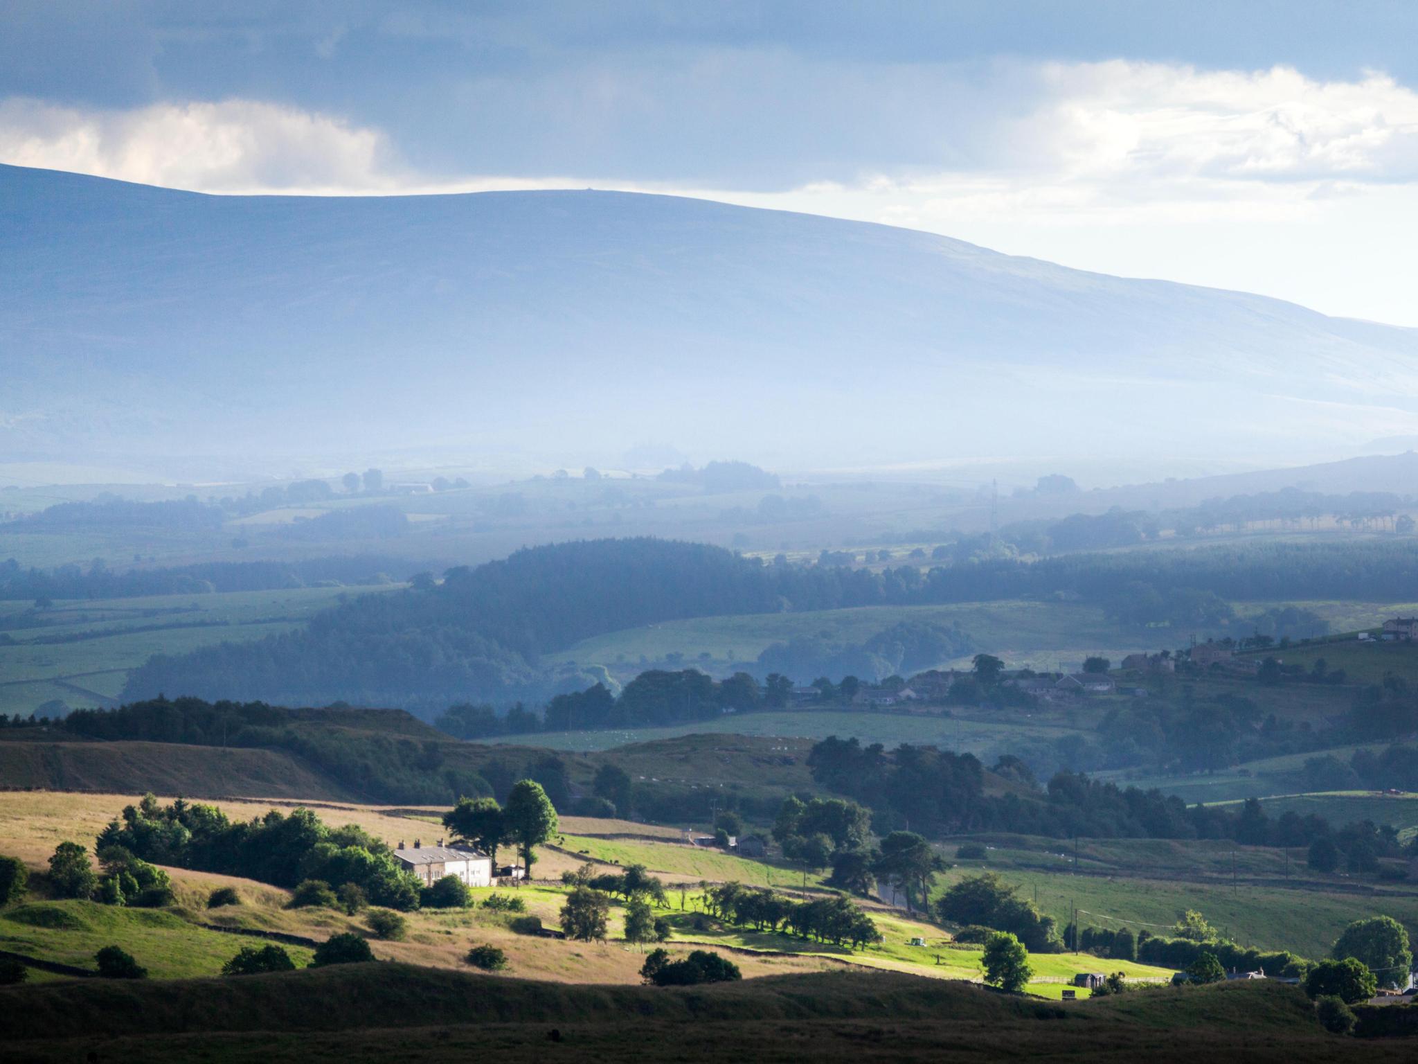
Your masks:
[[[0,1040],[16,1061],[262,1064],[408,1055],[423,1061],[939,1060],[943,1053],[951,1060],[1221,1057],[1293,1064],[1360,1055],[1397,1061],[1412,1050],[1404,1040],[1357,1043],[1324,1034],[1305,996],[1278,983],[1058,1006],[891,973],[652,989],[532,983],[400,965],[3,989]]]

